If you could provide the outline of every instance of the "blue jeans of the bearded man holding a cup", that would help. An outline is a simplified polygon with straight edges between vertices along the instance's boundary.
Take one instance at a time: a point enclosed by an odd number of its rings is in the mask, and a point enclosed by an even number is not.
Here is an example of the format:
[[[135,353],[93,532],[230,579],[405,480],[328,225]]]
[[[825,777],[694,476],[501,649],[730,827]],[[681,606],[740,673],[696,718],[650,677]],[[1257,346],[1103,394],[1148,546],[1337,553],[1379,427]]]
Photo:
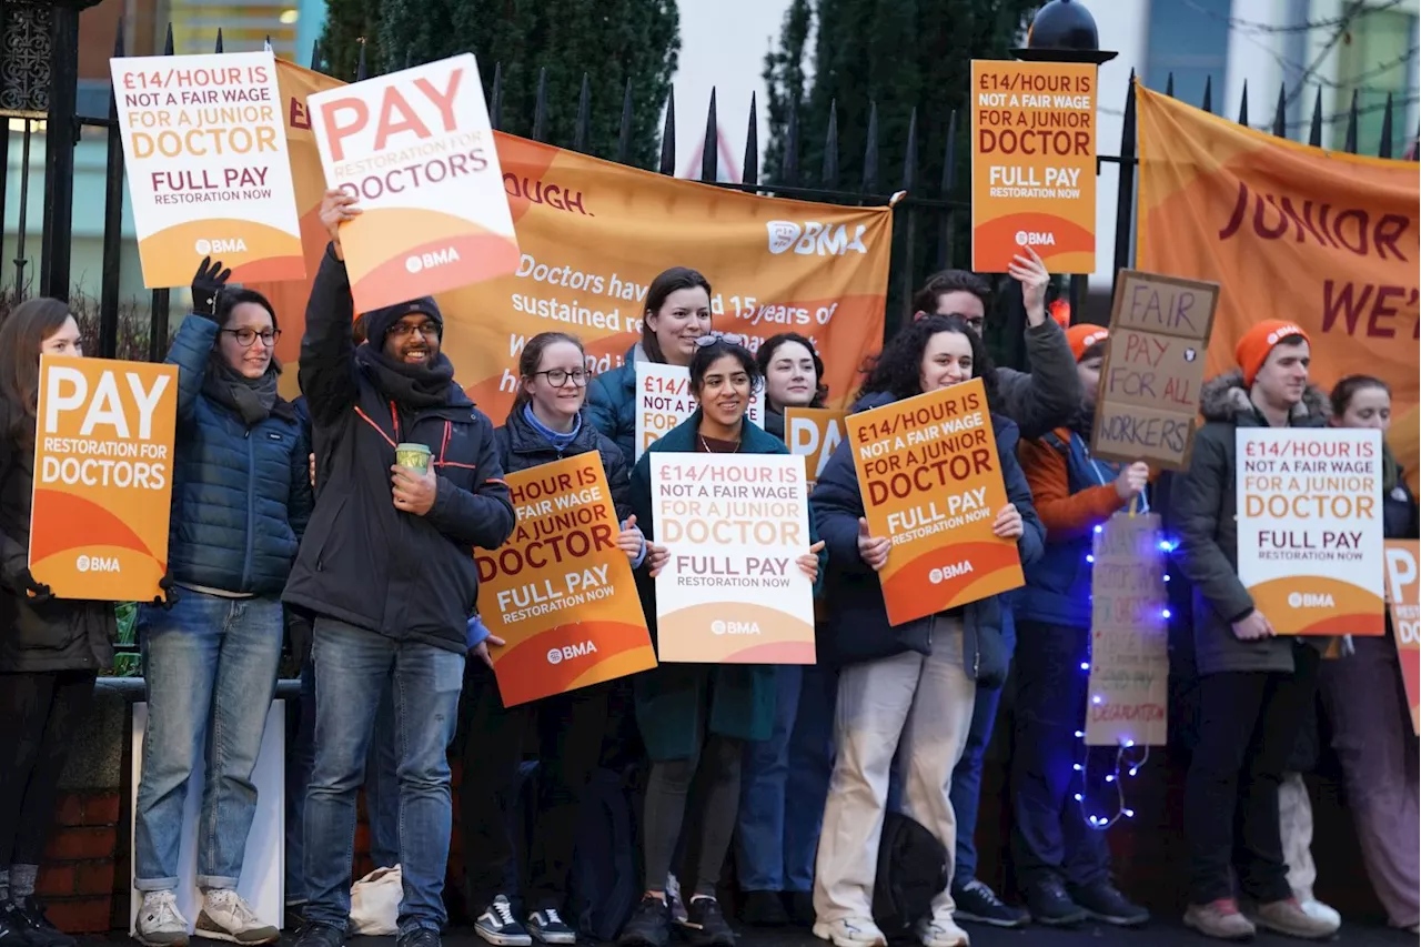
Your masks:
[[[345,930],[351,909],[355,795],[381,695],[394,671],[399,751],[399,933],[441,930],[452,805],[449,741],[459,718],[463,654],[315,620],[315,766],[306,795],[306,919]]]

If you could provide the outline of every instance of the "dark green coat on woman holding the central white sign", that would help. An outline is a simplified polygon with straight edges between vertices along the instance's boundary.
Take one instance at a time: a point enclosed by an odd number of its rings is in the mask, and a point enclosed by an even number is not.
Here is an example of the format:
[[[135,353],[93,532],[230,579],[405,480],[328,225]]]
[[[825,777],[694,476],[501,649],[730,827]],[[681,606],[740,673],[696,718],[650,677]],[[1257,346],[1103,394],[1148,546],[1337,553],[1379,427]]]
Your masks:
[[[631,474],[631,508],[637,525],[652,535],[651,454],[693,454],[701,411],[672,428],[641,455]],[[740,454],[789,454],[784,444],[746,421]],[[818,542],[814,516],[809,520],[810,545]],[[820,582],[828,556],[818,553]],[[651,636],[657,637],[655,582],[637,572],[637,589]],[[814,583],[818,593],[818,582]],[[657,762],[695,759],[706,734],[733,739],[769,739],[774,725],[774,668],[760,664],[662,664],[635,681],[637,725],[647,755]]]

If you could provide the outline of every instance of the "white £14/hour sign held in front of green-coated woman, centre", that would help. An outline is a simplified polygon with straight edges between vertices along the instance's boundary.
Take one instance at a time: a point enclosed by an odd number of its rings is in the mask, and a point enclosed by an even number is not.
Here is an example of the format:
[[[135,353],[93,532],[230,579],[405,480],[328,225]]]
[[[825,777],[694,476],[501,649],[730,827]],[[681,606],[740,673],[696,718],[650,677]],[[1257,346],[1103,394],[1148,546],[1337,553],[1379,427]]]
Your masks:
[[[814,589],[804,462],[772,454],[651,455],[657,656],[702,664],[813,664]]]

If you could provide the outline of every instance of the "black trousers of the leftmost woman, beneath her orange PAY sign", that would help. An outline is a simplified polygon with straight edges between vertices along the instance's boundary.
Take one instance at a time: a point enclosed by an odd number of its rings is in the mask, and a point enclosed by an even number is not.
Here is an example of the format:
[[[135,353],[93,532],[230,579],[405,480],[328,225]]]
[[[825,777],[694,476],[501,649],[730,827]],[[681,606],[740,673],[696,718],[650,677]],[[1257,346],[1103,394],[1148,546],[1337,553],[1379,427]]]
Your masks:
[[[92,671],[0,674],[0,870],[38,865]]]

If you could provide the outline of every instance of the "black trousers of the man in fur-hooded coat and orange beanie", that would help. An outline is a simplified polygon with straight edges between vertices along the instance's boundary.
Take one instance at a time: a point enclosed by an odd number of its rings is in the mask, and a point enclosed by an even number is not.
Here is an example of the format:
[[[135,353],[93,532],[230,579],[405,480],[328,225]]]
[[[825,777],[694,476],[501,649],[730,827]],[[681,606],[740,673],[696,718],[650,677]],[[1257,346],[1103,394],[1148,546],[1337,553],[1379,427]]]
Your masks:
[[[1313,710],[1320,654],[1293,647],[1293,674],[1229,671],[1199,681],[1199,742],[1184,789],[1189,900],[1259,903],[1293,896],[1283,862],[1277,785]]]

